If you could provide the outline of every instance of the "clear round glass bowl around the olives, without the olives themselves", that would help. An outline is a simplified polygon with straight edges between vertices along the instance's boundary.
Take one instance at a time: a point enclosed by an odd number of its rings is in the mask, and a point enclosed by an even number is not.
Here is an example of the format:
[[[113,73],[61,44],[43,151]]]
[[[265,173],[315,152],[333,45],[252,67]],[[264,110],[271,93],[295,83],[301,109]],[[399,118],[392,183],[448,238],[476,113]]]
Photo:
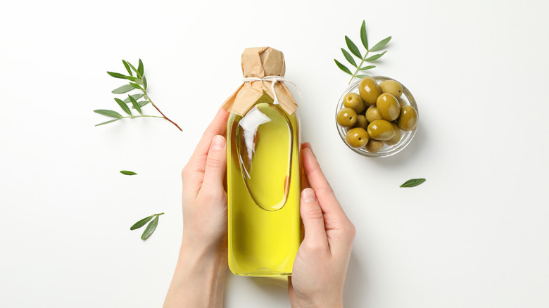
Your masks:
[[[385,80],[395,80],[395,79],[392,79],[392,78],[389,78],[389,77],[384,77],[384,76],[372,76],[372,78],[378,84],[380,82],[385,81]],[[345,90],[345,92],[343,92],[343,95],[341,96],[341,98],[339,98],[339,102],[337,103],[336,117],[337,117],[337,112],[341,108],[343,108],[343,100],[345,99],[345,96],[349,93],[358,94],[358,84],[360,84],[360,80],[358,80],[357,82],[354,82],[353,84],[351,84],[351,86],[349,86]],[[400,83],[400,84],[402,84],[402,83]],[[403,89],[403,95],[400,96],[400,98],[403,98],[403,100],[406,102],[406,105],[411,105],[413,108],[415,108],[415,110],[417,111],[417,126],[419,126],[419,110],[417,109],[417,104],[415,103],[414,96],[412,96],[412,93],[410,93],[410,90],[408,90],[408,88],[406,88],[404,86],[404,84],[402,84],[402,89]],[[355,153],[358,153],[362,156],[367,156],[369,158],[386,158],[388,156],[395,155],[396,153],[400,152],[406,146],[408,146],[408,144],[410,144],[410,141],[412,141],[412,139],[414,138],[415,132],[417,131],[417,126],[412,131],[402,131],[402,137],[400,138],[400,141],[398,143],[396,143],[395,145],[388,146],[388,145],[385,144],[379,152],[370,153],[364,147],[362,147],[362,148],[353,148],[352,146],[349,146],[349,144],[347,143],[347,141],[345,139],[345,135],[347,134],[346,127],[339,126],[339,124],[337,124],[337,120],[336,120],[337,131],[339,132],[339,136],[341,137],[341,140],[343,141],[343,143],[345,143],[348,146],[348,148],[353,150]]]

